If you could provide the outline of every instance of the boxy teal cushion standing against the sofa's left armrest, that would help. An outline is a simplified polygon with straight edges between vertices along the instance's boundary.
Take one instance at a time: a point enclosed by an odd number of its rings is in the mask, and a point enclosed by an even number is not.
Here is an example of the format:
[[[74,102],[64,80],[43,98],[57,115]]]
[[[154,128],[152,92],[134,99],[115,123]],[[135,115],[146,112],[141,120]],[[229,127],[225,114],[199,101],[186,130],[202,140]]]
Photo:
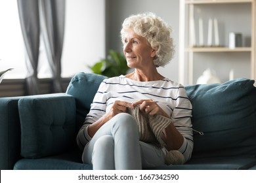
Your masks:
[[[18,110],[22,157],[42,158],[74,148],[74,97],[66,93],[24,97]]]

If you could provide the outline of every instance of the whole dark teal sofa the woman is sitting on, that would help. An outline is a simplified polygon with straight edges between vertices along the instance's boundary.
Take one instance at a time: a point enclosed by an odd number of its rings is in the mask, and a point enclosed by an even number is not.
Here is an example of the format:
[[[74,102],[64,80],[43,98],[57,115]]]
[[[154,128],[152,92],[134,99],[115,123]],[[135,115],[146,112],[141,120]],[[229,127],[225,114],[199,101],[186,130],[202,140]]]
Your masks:
[[[66,93],[0,98],[0,169],[92,169],[75,135],[104,76],[77,73]],[[154,169],[256,169],[256,88],[239,78],[186,86],[194,151],[184,165]]]

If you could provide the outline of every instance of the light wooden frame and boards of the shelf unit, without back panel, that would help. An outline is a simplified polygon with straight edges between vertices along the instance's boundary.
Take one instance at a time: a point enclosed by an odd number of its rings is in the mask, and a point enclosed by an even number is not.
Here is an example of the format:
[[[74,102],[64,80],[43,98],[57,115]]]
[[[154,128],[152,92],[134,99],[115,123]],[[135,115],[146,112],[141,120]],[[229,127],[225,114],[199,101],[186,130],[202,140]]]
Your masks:
[[[184,85],[195,84],[193,82],[193,65],[194,65],[194,54],[200,53],[214,53],[214,52],[223,52],[223,53],[246,53],[250,56],[250,78],[256,80],[256,56],[255,56],[255,45],[256,45],[256,23],[255,23],[255,5],[256,0],[180,0],[180,26],[179,26],[179,82]],[[194,6],[197,5],[221,5],[221,4],[237,4],[237,3],[247,3],[251,6],[251,27],[247,27],[247,29],[251,29],[251,38],[250,46],[246,47],[238,47],[238,48],[228,48],[226,46],[218,46],[218,47],[193,47],[190,46],[189,42],[189,33],[186,33],[187,24],[190,24],[190,18],[194,17]],[[191,7],[193,12],[191,11]],[[226,12],[228,14],[228,11]],[[220,33],[221,34],[221,33]]]

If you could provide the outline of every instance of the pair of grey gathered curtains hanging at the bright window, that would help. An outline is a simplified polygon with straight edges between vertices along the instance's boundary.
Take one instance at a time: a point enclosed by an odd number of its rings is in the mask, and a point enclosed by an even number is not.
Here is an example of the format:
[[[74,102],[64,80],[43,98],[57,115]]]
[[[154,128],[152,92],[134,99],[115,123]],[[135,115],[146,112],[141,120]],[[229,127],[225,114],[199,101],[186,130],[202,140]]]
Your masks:
[[[22,35],[28,55],[26,78],[28,95],[39,94],[37,66],[40,33],[43,34],[45,50],[53,73],[53,91],[63,92],[61,80],[61,56],[64,39],[64,0],[17,0]],[[41,27],[41,29],[40,29]]]

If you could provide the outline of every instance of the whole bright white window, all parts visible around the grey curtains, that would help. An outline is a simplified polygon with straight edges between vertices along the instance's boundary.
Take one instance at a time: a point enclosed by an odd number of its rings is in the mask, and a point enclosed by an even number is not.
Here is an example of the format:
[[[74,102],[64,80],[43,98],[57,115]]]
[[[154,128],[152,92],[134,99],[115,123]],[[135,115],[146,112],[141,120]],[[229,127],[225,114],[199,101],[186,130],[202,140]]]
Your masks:
[[[105,1],[66,0],[66,22],[62,50],[62,77],[91,72],[105,56]],[[26,52],[20,29],[17,1],[0,1],[0,71],[14,68],[5,78],[25,78]],[[39,48],[39,78],[51,77],[43,39]]]

